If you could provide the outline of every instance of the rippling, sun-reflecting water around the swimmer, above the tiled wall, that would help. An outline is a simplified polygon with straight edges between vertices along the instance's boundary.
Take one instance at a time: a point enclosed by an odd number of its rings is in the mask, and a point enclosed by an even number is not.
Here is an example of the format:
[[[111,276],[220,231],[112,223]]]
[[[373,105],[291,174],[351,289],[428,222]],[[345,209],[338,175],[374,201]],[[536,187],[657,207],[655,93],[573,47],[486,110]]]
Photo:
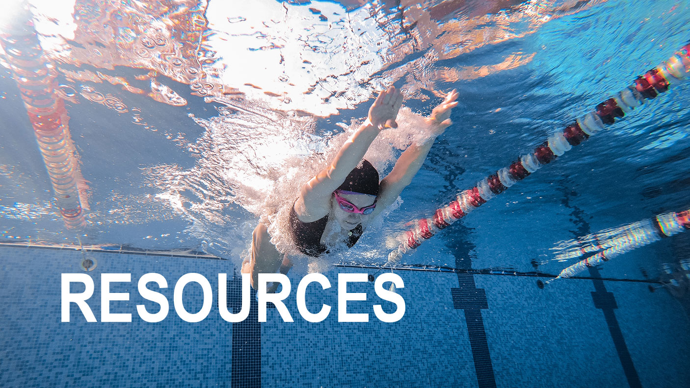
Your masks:
[[[323,163],[376,90],[396,85],[422,114],[460,90],[455,124],[400,208],[342,258],[373,265],[406,221],[508,165],[690,36],[682,1],[32,4],[70,116],[82,238],[92,245],[215,246],[237,256],[278,205],[264,203],[275,182],[295,178],[306,158]],[[16,84],[7,72],[2,80],[3,119],[17,130],[1,134],[0,238],[75,243],[28,123],[11,113],[23,109]],[[674,85],[468,216],[462,233],[478,263],[529,270],[514,258],[530,256],[555,271],[549,248],[573,238],[563,198],[591,215],[593,229],[687,208],[687,90]],[[392,164],[377,167],[385,174]],[[448,264],[439,257],[456,233],[406,263]]]

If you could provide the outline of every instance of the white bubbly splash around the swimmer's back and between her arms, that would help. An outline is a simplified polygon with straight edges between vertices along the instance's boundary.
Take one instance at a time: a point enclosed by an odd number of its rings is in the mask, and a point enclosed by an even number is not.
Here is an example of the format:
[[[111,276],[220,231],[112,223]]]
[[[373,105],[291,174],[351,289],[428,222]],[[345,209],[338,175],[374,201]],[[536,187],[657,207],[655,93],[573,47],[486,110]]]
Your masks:
[[[317,136],[312,117],[288,117],[259,102],[240,105],[230,99],[223,101],[225,106],[219,108],[218,116],[193,117],[205,129],[194,144],[201,155],[195,167],[184,170],[177,165],[159,165],[146,170],[149,183],[161,192],[156,198],[193,223],[188,229],[191,234],[208,240],[213,231],[225,246],[246,247],[251,230],[261,221],[268,225],[271,242],[280,252],[306,259],[293,246],[290,209],[302,184],[327,167],[357,130],[359,121],[335,136]],[[403,108],[399,127],[384,130],[365,158],[380,172],[390,171],[400,150],[413,141],[425,140],[426,135],[419,131],[422,120],[419,114]],[[237,222],[232,214],[242,211],[257,221],[250,225]],[[320,261],[323,259],[309,263],[319,267],[313,263]]]

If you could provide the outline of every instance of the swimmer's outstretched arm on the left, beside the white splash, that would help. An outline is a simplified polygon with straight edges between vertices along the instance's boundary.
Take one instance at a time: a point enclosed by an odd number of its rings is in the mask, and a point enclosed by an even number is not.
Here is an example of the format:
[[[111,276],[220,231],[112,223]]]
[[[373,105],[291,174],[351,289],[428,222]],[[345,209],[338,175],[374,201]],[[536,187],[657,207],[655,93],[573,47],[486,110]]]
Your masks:
[[[402,105],[402,94],[390,88],[384,90],[369,109],[368,118],[348,139],[324,170],[302,185],[295,202],[295,213],[302,222],[323,218],[331,208],[331,194],[357,167],[369,145],[385,127],[397,127],[395,118]]]

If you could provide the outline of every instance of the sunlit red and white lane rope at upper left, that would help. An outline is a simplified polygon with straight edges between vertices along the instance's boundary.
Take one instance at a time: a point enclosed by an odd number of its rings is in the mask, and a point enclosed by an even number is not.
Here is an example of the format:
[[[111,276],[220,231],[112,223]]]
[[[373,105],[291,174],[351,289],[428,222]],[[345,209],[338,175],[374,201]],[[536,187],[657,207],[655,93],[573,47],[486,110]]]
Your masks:
[[[1,27],[0,44],[26,106],[60,214],[68,229],[78,230],[85,221],[75,177],[77,165],[68,147],[69,118],[55,91],[55,72],[43,57],[31,14],[27,9],[22,12]]]

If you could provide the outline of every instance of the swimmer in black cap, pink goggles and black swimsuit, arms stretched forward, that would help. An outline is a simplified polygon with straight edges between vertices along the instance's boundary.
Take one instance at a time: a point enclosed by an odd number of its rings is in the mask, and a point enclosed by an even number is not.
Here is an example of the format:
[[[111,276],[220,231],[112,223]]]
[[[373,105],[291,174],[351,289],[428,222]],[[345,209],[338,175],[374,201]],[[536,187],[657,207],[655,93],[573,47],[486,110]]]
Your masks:
[[[371,221],[412,182],[433,140],[451,125],[457,96],[456,90],[450,92],[425,118],[426,125],[420,131],[429,140],[410,145],[397,159],[393,171],[379,181],[379,173],[363,159],[364,154],[382,130],[397,128],[395,119],[402,105],[402,94],[395,88],[381,92],[366,121],[342,145],[331,164],[302,185],[290,210],[290,232],[297,249],[316,257],[342,245],[355,245]],[[252,236],[250,260],[242,263],[242,273],[251,274],[252,287],[257,289],[259,274],[287,274],[292,265],[287,255],[270,243],[266,225],[259,223]],[[275,289],[277,284],[268,292]]]

